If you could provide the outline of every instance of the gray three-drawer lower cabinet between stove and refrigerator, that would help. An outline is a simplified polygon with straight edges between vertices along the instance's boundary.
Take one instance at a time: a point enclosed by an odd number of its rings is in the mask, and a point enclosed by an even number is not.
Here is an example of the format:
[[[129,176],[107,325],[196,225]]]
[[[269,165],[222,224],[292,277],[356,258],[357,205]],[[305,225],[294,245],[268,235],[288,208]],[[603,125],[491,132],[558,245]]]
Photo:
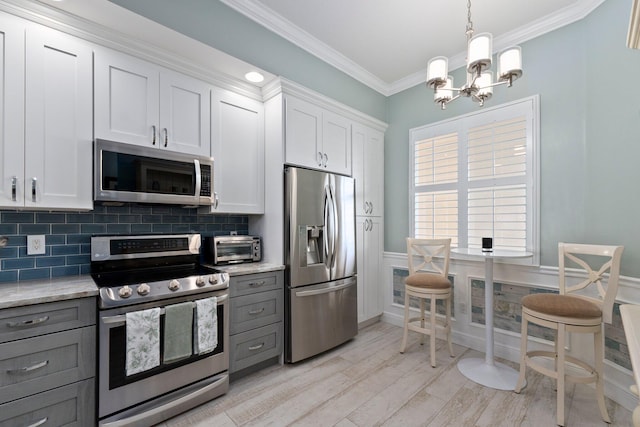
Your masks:
[[[229,371],[238,373],[282,354],[284,274],[232,276]]]

